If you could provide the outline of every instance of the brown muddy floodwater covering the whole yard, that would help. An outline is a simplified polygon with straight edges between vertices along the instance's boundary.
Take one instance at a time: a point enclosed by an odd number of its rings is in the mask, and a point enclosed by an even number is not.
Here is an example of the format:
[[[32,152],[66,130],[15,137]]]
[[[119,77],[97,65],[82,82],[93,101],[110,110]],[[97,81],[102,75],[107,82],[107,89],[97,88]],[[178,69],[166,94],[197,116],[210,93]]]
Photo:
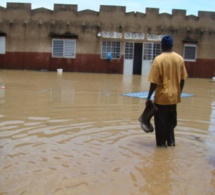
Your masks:
[[[214,194],[215,82],[187,79],[175,148],[138,117],[145,77],[0,71],[0,194]]]

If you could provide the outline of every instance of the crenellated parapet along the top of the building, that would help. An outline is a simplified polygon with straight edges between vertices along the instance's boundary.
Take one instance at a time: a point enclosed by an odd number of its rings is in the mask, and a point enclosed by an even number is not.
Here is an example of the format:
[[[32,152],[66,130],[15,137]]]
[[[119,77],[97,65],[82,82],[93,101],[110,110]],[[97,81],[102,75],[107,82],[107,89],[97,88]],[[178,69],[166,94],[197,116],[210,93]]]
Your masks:
[[[110,6],[110,5],[100,5],[100,10],[99,12],[93,11],[93,10],[83,10],[78,12],[78,5],[76,4],[54,4],[54,10],[48,10],[46,8],[38,8],[38,9],[33,9],[31,8],[31,3],[7,3],[6,8],[0,6],[0,12],[1,14],[4,13],[5,11],[10,12],[10,11],[27,11],[30,13],[31,11],[33,13],[42,13],[42,14],[53,14],[53,12],[58,13],[58,12],[67,12],[67,13],[74,13],[75,15],[90,15],[90,16],[95,16],[95,15],[112,15],[115,17],[118,14],[121,16],[129,16],[129,17],[147,17],[147,18],[153,18],[156,19],[158,17],[161,17],[161,19],[175,19],[175,18],[180,18],[180,19],[189,19],[189,20],[209,20],[213,22],[215,20],[215,12],[211,11],[199,11],[198,16],[187,16],[186,15],[186,10],[180,10],[180,9],[172,9],[172,14],[168,13],[159,13],[159,8],[146,8],[146,12],[128,12],[126,13],[126,6]],[[63,15],[63,14],[61,14]]]

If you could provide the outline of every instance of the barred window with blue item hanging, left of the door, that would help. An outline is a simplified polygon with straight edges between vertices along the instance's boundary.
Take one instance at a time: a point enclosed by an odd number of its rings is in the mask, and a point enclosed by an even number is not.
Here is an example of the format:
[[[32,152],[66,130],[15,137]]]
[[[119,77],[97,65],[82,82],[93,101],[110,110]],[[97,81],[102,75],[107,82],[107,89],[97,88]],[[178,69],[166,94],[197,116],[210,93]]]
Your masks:
[[[119,59],[121,56],[121,43],[119,41],[102,41],[101,58],[107,59],[109,52],[112,54],[112,59]]]

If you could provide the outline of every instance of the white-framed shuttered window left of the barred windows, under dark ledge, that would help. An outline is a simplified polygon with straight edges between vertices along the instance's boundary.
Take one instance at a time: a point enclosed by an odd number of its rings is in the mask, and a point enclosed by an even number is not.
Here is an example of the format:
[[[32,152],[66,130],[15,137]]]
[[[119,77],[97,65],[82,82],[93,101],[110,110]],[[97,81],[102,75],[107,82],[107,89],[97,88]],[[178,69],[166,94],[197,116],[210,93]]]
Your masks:
[[[52,39],[53,58],[76,58],[76,39]]]

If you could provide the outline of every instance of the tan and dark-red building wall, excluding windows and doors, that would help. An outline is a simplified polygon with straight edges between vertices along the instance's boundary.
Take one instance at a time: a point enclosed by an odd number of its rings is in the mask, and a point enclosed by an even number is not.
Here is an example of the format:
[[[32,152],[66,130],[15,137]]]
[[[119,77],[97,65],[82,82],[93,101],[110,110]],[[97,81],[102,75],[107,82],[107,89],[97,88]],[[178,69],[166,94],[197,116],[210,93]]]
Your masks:
[[[101,59],[99,32],[171,34],[174,50],[183,55],[184,43],[197,45],[197,60],[186,62],[190,77],[215,75],[215,12],[199,11],[198,16],[185,10],[172,14],[147,8],[145,13],[126,12],[123,6],[100,6],[100,11],[77,11],[77,5],[54,4],[54,10],[31,9],[30,3],[7,3],[0,7],[0,36],[6,37],[6,53],[0,54],[0,68],[48,69],[65,71],[122,73],[124,37],[121,58],[111,62]],[[52,57],[52,36],[77,35],[75,59]],[[111,40],[105,39],[105,40]],[[134,42],[147,42],[132,40]]]

